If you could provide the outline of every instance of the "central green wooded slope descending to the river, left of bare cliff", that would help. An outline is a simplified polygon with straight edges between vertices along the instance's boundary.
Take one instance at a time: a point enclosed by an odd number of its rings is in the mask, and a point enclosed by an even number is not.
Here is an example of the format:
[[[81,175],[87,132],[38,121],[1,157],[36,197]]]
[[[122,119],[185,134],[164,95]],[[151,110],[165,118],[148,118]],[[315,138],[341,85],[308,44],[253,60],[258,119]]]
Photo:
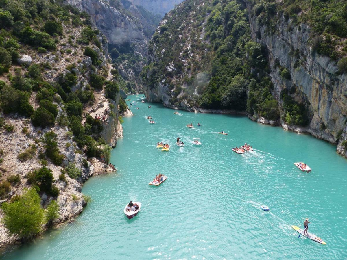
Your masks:
[[[157,59],[142,73],[147,87],[167,84],[176,106],[187,102],[279,118],[266,52],[251,40],[243,3],[185,1],[165,20],[152,37],[150,50]]]

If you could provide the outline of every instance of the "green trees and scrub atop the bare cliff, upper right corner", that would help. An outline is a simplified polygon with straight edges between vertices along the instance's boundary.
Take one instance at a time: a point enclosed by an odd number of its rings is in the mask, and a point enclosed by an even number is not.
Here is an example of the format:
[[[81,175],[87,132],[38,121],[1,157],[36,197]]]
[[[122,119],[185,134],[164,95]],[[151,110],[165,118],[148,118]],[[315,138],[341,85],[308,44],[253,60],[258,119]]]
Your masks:
[[[347,3],[343,0],[251,0],[252,16],[257,24],[266,25],[269,33],[276,33],[276,25],[282,17],[290,23],[305,23],[312,29],[312,51],[340,60],[347,55]],[[347,59],[339,66],[346,71]]]

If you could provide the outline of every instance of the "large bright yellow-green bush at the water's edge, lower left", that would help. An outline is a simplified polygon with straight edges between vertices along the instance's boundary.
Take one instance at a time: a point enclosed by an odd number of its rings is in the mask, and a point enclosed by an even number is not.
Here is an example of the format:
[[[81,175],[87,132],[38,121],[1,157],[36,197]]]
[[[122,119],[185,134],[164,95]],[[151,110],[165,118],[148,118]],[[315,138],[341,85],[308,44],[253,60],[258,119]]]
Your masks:
[[[26,189],[19,200],[2,205],[5,214],[2,221],[10,234],[28,239],[41,232],[45,214],[40,201],[35,189]]]

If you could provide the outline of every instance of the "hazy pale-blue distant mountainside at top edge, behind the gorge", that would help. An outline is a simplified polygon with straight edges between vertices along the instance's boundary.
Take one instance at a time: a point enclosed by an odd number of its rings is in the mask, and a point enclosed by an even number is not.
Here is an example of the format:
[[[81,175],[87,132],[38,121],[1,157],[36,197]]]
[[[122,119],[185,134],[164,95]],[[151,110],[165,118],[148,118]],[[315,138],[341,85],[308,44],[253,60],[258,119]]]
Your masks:
[[[175,5],[183,0],[129,0],[133,5],[143,6],[153,14],[160,14],[162,17],[174,9]]]

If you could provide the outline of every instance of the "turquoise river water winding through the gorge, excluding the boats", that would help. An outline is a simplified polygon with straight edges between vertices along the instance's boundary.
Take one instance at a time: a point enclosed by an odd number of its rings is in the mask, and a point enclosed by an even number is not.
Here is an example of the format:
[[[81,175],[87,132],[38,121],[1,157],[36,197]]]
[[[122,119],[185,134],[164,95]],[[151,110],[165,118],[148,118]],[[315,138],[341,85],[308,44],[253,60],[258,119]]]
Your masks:
[[[160,104],[137,104],[139,110],[132,107],[134,115],[124,118],[124,138],[112,151],[118,172],[85,183],[82,191],[93,202],[82,215],[5,257],[347,257],[347,160],[336,154],[335,146],[246,117],[175,115]],[[147,115],[156,124],[149,124]],[[186,127],[191,122],[194,129]],[[229,135],[217,134],[222,130]],[[185,147],[175,145],[178,136]],[[195,137],[201,138],[200,147],[191,144]],[[157,149],[157,141],[169,143],[170,150]],[[231,150],[245,142],[255,151],[238,155]],[[293,164],[298,161],[312,172],[299,171]],[[148,185],[158,173],[168,179],[159,187]],[[130,220],[123,213],[129,200],[142,203]],[[291,225],[301,227],[305,217],[312,222],[309,232],[327,245],[298,238]]]

